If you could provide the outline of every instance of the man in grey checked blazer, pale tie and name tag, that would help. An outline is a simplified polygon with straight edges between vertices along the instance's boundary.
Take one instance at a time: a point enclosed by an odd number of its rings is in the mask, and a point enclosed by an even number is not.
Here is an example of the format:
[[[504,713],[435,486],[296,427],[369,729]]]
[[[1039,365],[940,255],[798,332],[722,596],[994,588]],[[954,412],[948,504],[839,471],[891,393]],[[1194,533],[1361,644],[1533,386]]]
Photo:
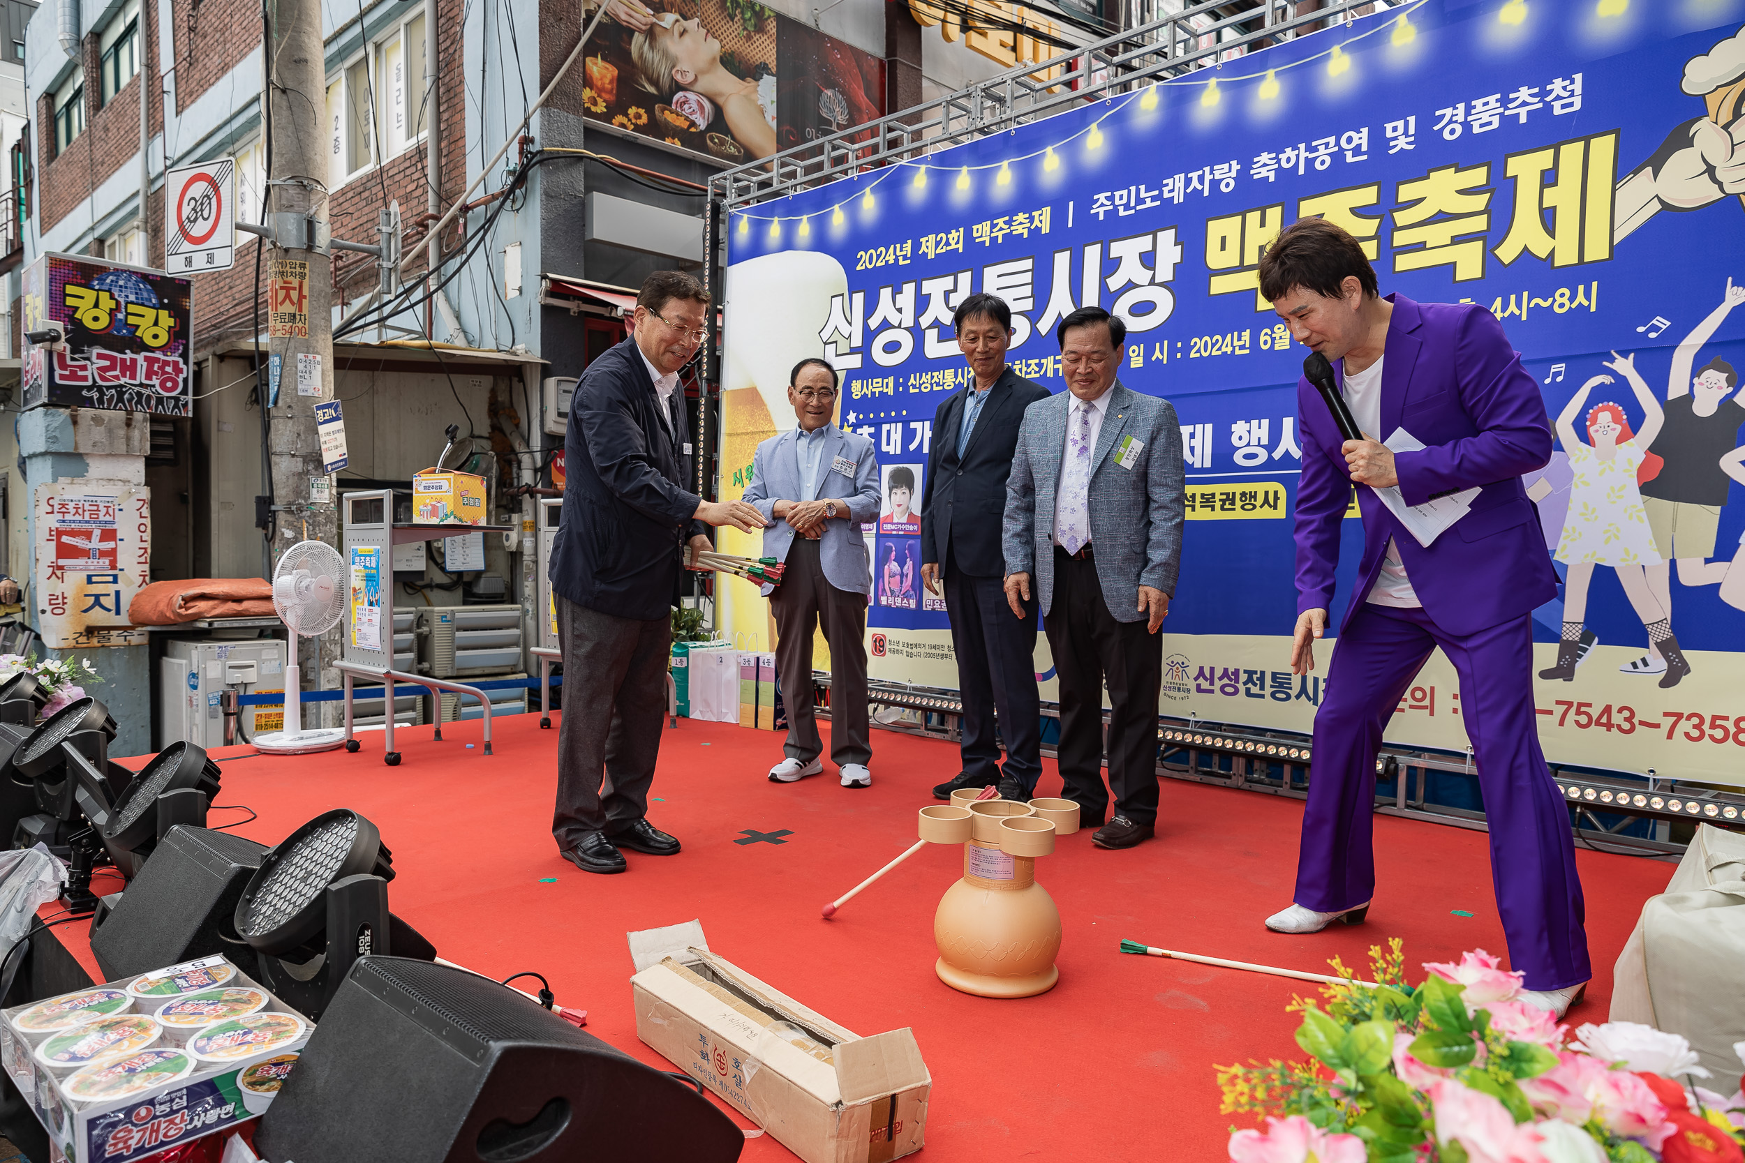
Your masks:
[[[1157,825],[1159,628],[1181,565],[1181,429],[1167,399],[1115,378],[1127,326],[1080,307],[1056,331],[1068,391],[1031,405],[1005,500],[1005,595],[1024,617],[1031,577],[1061,680],[1063,795],[1099,847]],[[1103,825],[1103,684],[1112,706]]]

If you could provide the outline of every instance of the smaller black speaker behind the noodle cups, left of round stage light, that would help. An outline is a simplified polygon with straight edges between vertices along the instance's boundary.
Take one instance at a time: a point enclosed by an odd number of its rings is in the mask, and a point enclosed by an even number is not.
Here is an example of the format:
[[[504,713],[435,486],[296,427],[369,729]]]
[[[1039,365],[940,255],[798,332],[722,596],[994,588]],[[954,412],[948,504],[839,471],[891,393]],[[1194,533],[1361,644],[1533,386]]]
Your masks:
[[[176,826],[145,861],[120,900],[91,928],[103,980],[223,954],[248,964],[236,935],[236,903],[267,854],[227,832]]]

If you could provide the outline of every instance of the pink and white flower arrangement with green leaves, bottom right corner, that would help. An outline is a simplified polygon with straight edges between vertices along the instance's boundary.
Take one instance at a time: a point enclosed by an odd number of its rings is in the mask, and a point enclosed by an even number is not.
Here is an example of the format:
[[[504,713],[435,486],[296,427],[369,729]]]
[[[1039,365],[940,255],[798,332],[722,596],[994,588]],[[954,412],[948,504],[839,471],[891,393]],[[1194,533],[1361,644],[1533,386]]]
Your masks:
[[[1673,1081],[1708,1078],[1684,1037],[1611,1022],[1567,1041],[1482,949],[1415,989],[1398,938],[1370,962],[1373,987],[1291,1003],[1310,1062],[1218,1067],[1225,1112],[1270,1116],[1230,1135],[1234,1163],[1745,1163],[1745,1093]]]

